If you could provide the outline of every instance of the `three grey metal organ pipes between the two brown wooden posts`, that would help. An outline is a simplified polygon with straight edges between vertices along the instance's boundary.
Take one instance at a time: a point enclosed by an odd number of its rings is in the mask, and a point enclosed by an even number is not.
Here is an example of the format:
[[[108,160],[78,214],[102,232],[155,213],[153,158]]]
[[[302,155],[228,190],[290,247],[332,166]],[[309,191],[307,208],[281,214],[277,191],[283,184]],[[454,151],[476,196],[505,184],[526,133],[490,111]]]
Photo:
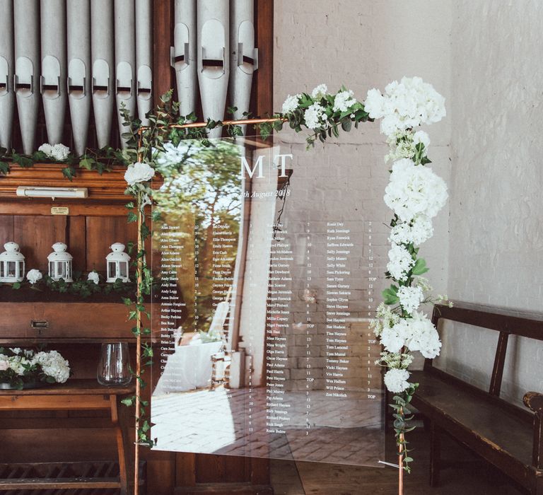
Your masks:
[[[181,115],[196,110],[197,85],[204,120],[223,120],[228,93],[235,119],[249,110],[258,68],[254,17],[254,0],[175,0],[172,66]]]

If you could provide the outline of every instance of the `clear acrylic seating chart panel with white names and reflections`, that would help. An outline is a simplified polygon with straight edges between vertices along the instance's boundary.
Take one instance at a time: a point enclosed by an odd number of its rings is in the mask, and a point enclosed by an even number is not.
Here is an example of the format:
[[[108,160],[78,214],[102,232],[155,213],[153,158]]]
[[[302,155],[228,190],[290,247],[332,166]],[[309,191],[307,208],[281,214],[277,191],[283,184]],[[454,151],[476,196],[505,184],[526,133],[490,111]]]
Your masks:
[[[312,168],[316,151],[298,146],[181,141],[164,160],[153,214],[157,450],[384,457],[368,328],[383,235],[349,191],[357,182]]]

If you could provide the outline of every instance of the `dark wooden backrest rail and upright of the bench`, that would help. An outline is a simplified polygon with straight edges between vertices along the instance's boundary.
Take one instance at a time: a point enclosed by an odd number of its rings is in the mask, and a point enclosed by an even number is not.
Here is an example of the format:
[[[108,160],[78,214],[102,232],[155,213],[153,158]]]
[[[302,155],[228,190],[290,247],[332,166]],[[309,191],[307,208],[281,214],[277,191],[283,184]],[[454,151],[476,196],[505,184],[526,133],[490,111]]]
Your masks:
[[[438,327],[439,320],[451,320],[474,327],[496,330],[500,333],[489,387],[489,394],[499,397],[509,335],[543,340],[543,318],[539,319],[537,316],[539,315],[532,316],[513,310],[456,303],[452,308],[436,305],[433,308],[432,322]],[[431,359],[426,359],[424,370],[429,372],[435,370]],[[448,373],[440,371],[440,374]]]

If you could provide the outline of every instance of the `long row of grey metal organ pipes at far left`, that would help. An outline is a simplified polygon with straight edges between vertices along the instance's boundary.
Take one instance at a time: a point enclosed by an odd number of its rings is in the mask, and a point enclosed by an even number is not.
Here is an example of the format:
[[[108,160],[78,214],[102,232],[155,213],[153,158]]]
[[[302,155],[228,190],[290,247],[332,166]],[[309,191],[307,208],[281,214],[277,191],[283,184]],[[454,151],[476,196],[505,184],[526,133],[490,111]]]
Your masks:
[[[124,103],[145,121],[151,23],[151,0],[0,0],[0,146],[11,147],[15,102],[27,154],[35,151],[40,99],[50,144],[62,142],[68,102],[78,155],[91,106],[100,148],[110,144],[115,101],[118,114]]]

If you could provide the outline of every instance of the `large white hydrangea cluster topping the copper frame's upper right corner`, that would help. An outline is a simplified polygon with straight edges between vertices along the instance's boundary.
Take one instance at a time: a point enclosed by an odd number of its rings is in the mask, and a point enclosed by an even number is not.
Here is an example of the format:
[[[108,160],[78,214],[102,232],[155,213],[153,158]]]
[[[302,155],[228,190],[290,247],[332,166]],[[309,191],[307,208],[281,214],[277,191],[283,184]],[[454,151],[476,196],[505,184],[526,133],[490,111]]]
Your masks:
[[[445,117],[445,98],[420,77],[393,81],[382,95],[370,89],[364,103],[370,117],[381,120],[381,132],[390,136],[398,130],[433,124]]]

